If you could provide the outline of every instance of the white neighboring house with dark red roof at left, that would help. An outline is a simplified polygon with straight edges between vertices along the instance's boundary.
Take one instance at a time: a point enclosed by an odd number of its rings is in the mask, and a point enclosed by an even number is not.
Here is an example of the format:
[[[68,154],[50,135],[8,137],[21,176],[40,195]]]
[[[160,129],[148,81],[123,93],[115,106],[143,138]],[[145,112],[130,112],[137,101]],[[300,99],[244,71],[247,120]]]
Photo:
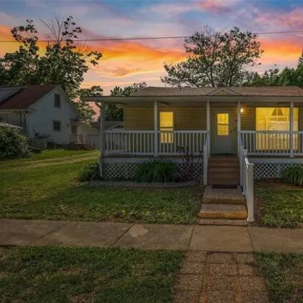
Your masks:
[[[23,128],[29,138],[48,136],[59,144],[98,130],[80,121],[74,103],[60,85],[0,87],[0,122]]]

